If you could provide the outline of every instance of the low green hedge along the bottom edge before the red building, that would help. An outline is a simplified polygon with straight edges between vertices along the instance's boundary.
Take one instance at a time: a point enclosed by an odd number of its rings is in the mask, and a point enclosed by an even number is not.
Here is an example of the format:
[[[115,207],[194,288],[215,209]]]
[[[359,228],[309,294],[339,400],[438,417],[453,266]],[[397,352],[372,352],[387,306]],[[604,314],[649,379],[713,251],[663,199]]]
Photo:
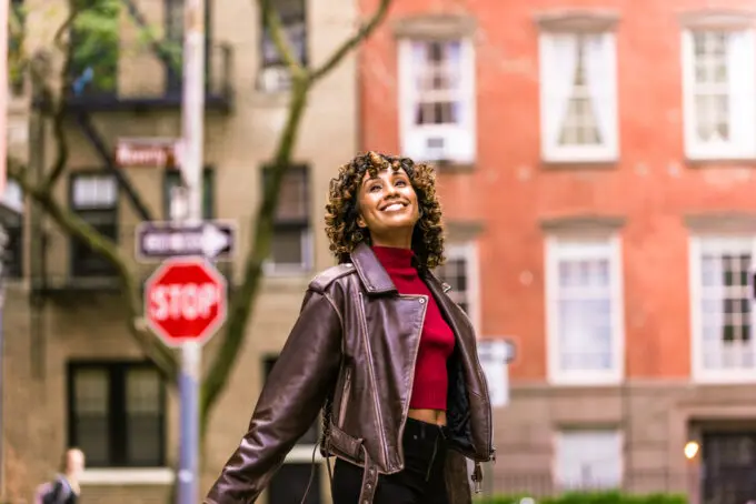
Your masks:
[[[474,502],[475,504],[520,504],[520,500],[524,497],[530,497],[530,495],[496,495],[478,498]],[[557,497],[533,498],[535,504],[687,504],[687,498],[684,495],[631,495],[620,492],[568,492]]]

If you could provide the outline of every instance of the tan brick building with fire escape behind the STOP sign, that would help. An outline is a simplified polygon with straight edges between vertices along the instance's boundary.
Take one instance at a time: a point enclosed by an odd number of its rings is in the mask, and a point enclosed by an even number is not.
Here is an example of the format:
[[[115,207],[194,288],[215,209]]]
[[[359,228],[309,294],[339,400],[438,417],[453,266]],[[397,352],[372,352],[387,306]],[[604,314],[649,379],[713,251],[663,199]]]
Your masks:
[[[27,51],[50,51],[52,33],[66,10],[43,0],[23,3],[29,12]],[[207,3],[203,205],[207,218],[238,223],[240,253],[219,264],[233,285],[240,280],[263,169],[284,124],[288,79],[262,33],[256,2]],[[147,24],[180,47],[182,0],[123,2],[123,9],[112,13],[119,20],[118,37],[98,47],[99,57],[74,59],[78,94],[69,101],[70,120],[64,125],[70,169],[58,183],[57,198],[118,241],[137,279],[145,279],[157,264],[133,260],[135,226],[143,219],[140,206],[151,219],[165,219],[177,172],[158,167],[117,168],[113,151],[123,137],[180,135],[181,77],[140,42],[138,16],[129,4]],[[278,8],[298,57],[307,64],[320,64],[354,33],[357,10],[349,1],[294,0],[279,2]],[[80,79],[91,73],[115,79]],[[320,231],[321,209],[336,167],[357,149],[355,73],[355,57],[349,56],[310,94],[294,155],[297,165],[285,183],[273,253],[266,265],[249,337],[211,417],[202,460],[203,492],[247,426],[308,282],[316,271],[332,264]],[[44,170],[56,155],[52,129],[30,110],[29,102],[29,90],[17,89],[12,109],[21,124],[30,119],[26,138],[30,169]],[[12,134],[19,132],[18,121]],[[16,148],[19,138],[24,138],[23,130],[14,137]],[[17,189],[9,189],[11,195]],[[135,204],[132,192],[140,203]],[[12,278],[3,331],[4,496],[13,503],[30,502],[32,488],[52,475],[63,448],[78,445],[88,456],[87,502],[166,502],[177,456],[177,397],[145,363],[127,331],[113,269],[86,244],[62,234],[28,202],[23,220],[10,234]],[[206,362],[213,343],[207,347]],[[262,502],[301,497],[316,437],[314,429],[300,441]],[[320,487],[327,492],[327,485]]]

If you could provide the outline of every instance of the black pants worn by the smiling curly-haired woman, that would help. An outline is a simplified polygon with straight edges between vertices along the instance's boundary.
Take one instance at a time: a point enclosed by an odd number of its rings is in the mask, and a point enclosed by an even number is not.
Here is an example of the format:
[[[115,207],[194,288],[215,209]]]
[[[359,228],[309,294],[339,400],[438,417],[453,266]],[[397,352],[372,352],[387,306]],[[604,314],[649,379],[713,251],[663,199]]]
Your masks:
[[[378,477],[374,504],[448,504],[444,461],[446,427],[407,419],[402,439],[405,468]],[[358,504],[362,487],[362,467],[336,461],[334,504]]]

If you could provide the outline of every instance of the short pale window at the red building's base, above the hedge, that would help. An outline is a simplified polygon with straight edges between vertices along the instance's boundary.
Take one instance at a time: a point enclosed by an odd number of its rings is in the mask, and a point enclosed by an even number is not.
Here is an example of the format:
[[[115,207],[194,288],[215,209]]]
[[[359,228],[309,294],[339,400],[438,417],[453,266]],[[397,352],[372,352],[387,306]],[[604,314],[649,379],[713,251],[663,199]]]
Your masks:
[[[613,490],[623,481],[618,431],[575,430],[556,436],[555,483],[563,490]]]

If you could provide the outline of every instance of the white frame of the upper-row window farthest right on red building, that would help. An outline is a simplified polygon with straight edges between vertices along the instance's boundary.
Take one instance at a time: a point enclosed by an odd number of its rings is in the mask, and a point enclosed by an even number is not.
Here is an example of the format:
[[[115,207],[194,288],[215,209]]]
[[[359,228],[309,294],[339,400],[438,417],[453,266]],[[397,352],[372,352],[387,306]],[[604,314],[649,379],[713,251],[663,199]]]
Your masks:
[[[694,31],[728,31],[742,43],[740,62],[735,80],[739,95],[733,99],[730,82],[728,142],[707,144],[696,134],[695,47]],[[692,160],[756,158],[756,48],[754,30],[684,30],[682,33],[683,118],[685,153]],[[730,46],[732,48],[732,46]],[[748,63],[749,62],[749,63]],[[732,59],[730,59],[732,64]],[[729,68],[728,68],[729,72]],[[729,73],[732,75],[732,72]]]

